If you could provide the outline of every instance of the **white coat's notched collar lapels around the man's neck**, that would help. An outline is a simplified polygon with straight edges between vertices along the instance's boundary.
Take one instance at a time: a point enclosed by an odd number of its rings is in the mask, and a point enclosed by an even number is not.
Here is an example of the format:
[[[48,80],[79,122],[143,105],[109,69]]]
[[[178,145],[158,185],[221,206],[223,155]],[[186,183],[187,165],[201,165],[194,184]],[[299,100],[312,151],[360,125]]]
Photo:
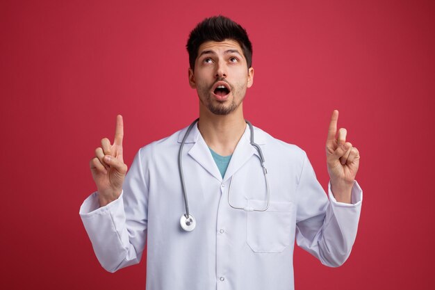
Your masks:
[[[184,135],[186,134],[188,128],[184,128],[180,131],[178,142],[181,143]],[[197,161],[204,169],[206,169],[213,177],[215,177],[220,182],[225,182],[229,177],[233,176],[239,168],[241,168],[253,154],[259,155],[254,146],[251,145],[250,141],[251,132],[249,126],[246,126],[245,132],[242,138],[240,138],[236,149],[231,156],[231,161],[229,162],[227,171],[225,172],[224,178],[220,175],[215,162],[213,161],[213,156],[211,156],[210,150],[202,138],[201,133],[197,125],[195,125],[190,131],[186,138],[185,143],[194,143],[193,146],[188,150],[188,154]],[[265,145],[266,133],[261,129],[254,127],[254,142],[258,145]],[[258,163],[258,166],[260,164]]]

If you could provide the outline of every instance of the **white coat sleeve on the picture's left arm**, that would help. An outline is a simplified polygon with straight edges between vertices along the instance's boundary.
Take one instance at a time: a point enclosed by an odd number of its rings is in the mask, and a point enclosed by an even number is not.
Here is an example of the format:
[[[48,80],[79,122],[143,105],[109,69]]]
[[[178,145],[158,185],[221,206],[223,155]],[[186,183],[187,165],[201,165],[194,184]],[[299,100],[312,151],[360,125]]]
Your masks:
[[[105,207],[99,207],[98,193],[92,193],[79,211],[95,255],[109,272],[138,264],[145,248],[148,188],[140,150],[122,189],[120,198]]]

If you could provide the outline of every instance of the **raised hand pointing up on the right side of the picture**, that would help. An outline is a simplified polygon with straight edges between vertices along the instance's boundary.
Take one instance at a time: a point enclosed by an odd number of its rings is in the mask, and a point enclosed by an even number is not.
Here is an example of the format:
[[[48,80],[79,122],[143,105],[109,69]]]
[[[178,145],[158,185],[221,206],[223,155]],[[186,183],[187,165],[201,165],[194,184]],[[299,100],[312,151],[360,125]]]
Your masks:
[[[327,166],[331,191],[338,202],[351,203],[351,191],[359,168],[359,151],[346,142],[347,131],[338,130],[338,111],[332,113],[326,143]]]

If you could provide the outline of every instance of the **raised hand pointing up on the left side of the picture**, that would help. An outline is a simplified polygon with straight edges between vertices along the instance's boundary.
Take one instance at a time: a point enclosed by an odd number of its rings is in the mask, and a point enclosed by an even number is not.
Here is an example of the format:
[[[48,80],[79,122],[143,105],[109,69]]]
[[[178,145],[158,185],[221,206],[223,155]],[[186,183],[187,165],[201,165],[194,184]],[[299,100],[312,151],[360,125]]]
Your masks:
[[[101,139],[101,147],[95,150],[95,157],[90,161],[90,171],[97,185],[100,207],[119,198],[122,192],[127,172],[127,166],[122,158],[123,137],[122,115],[117,115],[113,144],[110,144],[108,138]]]

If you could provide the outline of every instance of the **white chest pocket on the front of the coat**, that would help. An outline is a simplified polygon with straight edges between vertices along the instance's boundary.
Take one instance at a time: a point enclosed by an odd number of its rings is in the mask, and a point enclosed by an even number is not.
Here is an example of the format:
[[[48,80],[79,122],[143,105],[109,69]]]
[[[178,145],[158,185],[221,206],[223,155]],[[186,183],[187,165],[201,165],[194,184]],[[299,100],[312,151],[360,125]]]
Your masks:
[[[265,200],[247,200],[247,206],[263,209]],[[247,243],[254,252],[282,252],[295,234],[292,202],[270,202],[267,211],[247,212]]]

